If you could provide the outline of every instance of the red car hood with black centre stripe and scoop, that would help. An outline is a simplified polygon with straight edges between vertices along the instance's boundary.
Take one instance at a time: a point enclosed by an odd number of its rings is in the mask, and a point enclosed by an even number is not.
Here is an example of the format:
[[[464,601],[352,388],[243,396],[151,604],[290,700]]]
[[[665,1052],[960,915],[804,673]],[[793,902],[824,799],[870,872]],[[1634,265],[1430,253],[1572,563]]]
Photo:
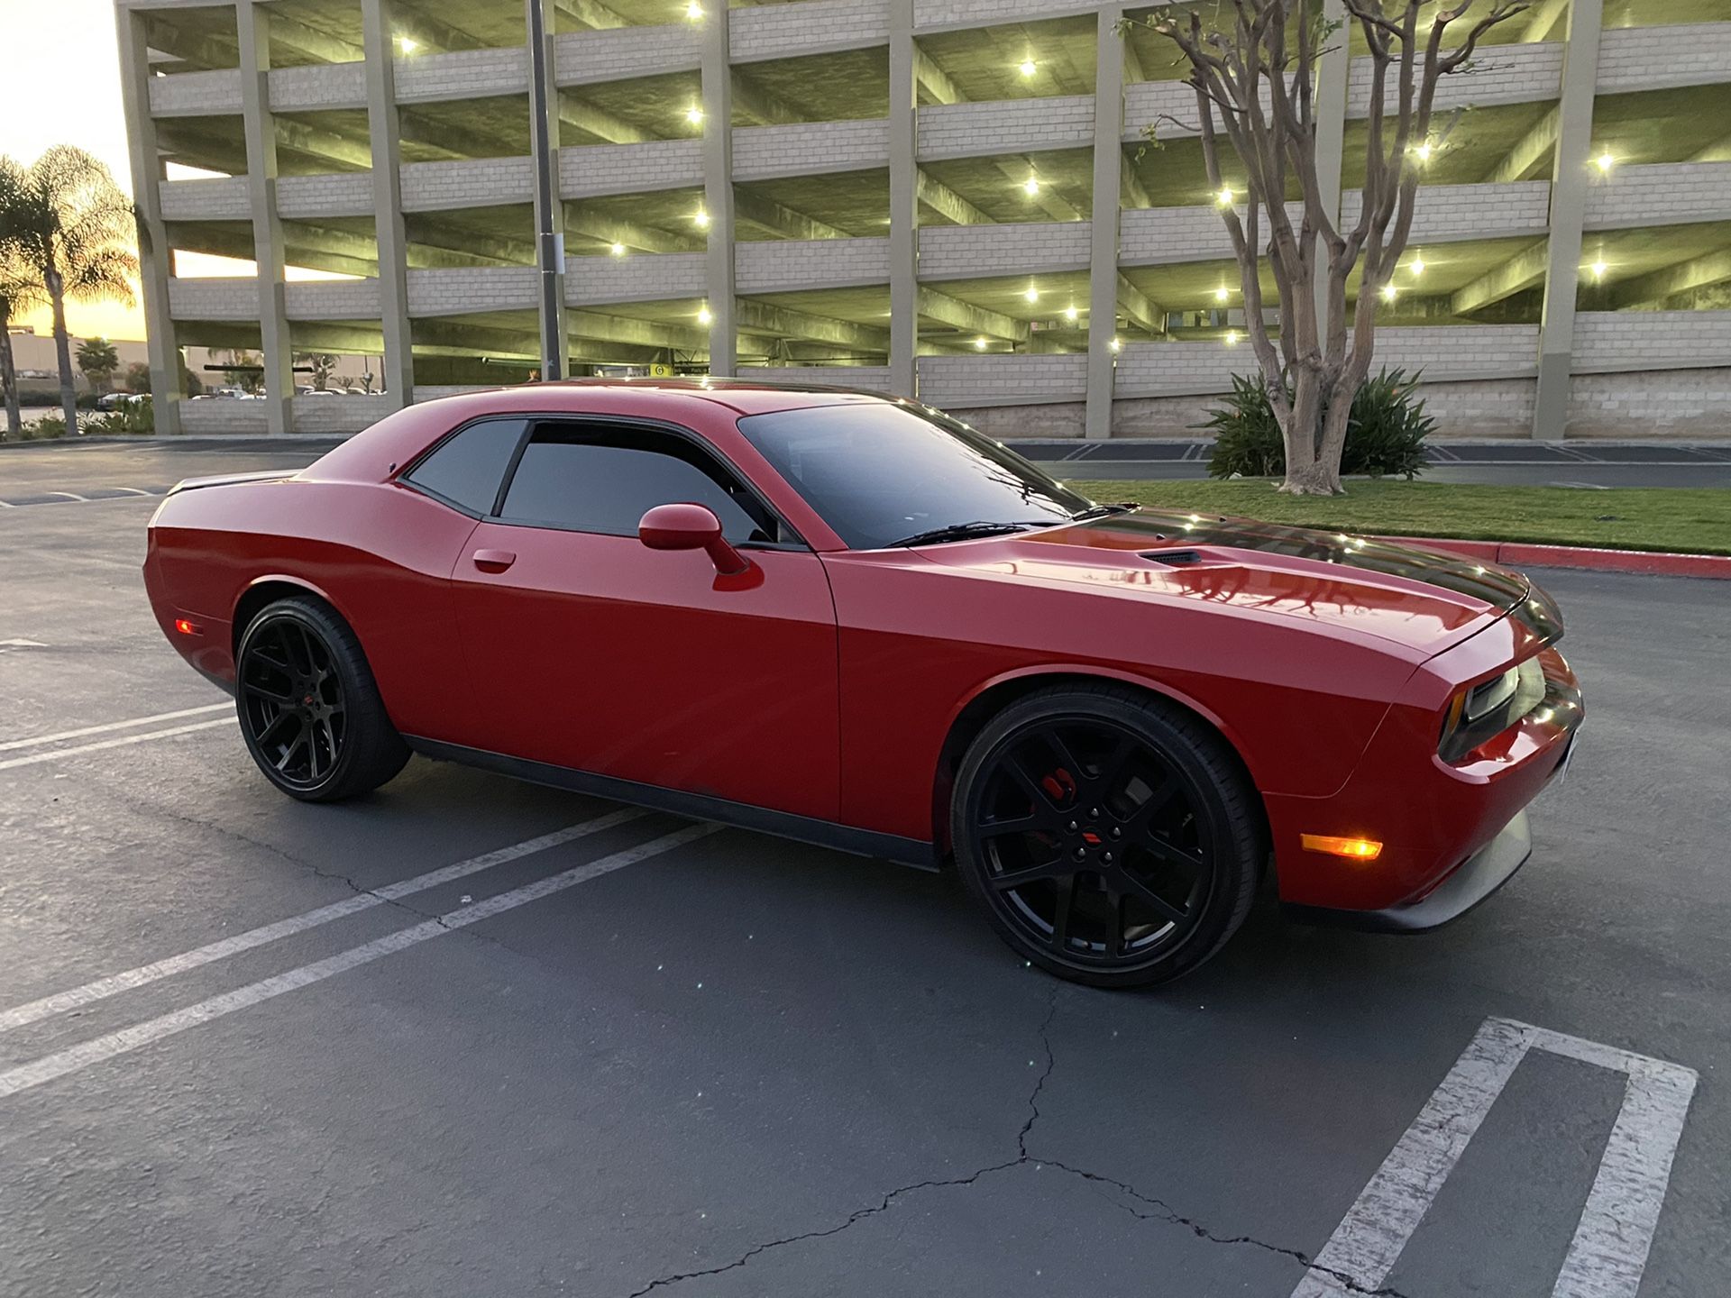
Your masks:
[[[1528,594],[1520,573],[1438,550],[1155,509],[919,554],[981,575],[1298,618],[1425,656],[1482,630]]]

